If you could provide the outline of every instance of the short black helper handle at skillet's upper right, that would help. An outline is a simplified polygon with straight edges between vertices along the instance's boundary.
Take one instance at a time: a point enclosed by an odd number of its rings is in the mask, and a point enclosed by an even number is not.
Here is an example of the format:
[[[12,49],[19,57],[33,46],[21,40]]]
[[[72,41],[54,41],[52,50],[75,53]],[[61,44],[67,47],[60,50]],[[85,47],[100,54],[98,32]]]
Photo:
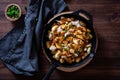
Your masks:
[[[89,12],[83,9],[80,9],[78,11],[73,12],[73,14],[85,18],[86,20],[90,22],[91,25],[93,25],[93,17]]]

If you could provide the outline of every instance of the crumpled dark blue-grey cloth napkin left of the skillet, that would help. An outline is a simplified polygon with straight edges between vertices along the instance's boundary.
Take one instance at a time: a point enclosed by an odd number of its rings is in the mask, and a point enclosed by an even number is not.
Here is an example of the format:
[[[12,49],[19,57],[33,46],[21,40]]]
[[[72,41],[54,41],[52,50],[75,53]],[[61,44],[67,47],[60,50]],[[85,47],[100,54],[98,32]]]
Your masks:
[[[0,59],[14,73],[32,76],[39,71],[42,27],[67,8],[64,0],[29,0],[23,24],[0,39]]]

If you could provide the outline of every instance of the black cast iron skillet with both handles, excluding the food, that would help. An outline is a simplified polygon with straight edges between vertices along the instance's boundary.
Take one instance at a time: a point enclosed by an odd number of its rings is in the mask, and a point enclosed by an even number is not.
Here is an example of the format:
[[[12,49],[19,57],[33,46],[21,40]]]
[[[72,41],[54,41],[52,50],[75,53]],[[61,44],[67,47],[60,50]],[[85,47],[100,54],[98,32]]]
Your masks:
[[[80,13],[85,14],[86,16],[80,16]],[[79,63],[72,63],[72,64],[61,64],[59,61],[56,61],[51,54],[51,51],[46,47],[46,41],[48,41],[48,30],[51,29],[51,26],[53,25],[54,22],[56,22],[56,20],[60,20],[60,18],[62,17],[73,17],[77,20],[81,20],[83,21],[87,28],[91,30],[91,34],[93,35],[93,38],[91,40],[92,43],[92,48],[91,48],[91,53],[82,61],[80,61]],[[77,66],[81,66],[84,63],[86,63],[88,60],[90,60],[91,58],[93,58],[94,54],[95,54],[95,49],[96,49],[96,34],[93,28],[93,21],[92,21],[92,16],[84,11],[84,10],[78,10],[72,13],[68,13],[68,14],[60,14],[57,17],[54,17],[52,20],[48,21],[48,23],[46,24],[44,31],[43,31],[43,35],[42,35],[42,49],[44,54],[47,56],[47,58],[51,61],[51,67],[49,68],[48,73],[44,76],[43,80],[48,80],[48,78],[50,77],[51,73],[54,71],[54,69],[58,66],[61,67],[65,67],[65,68],[71,68],[71,67],[77,67]]]

